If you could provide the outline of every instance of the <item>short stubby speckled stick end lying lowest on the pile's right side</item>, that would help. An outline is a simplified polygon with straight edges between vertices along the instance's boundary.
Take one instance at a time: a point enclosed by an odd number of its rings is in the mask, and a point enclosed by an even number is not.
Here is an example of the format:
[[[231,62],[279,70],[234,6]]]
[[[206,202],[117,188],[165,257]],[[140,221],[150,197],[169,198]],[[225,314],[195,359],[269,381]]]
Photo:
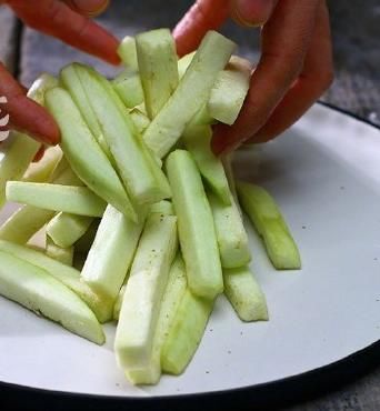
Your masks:
[[[266,295],[248,267],[224,269],[224,293],[242,321],[267,321]]]

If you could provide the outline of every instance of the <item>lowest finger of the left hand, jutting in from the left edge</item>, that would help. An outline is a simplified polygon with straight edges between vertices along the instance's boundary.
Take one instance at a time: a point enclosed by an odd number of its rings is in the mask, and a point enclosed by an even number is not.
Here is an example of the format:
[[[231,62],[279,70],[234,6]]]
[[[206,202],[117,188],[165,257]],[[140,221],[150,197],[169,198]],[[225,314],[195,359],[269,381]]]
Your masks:
[[[0,96],[7,98],[1,108],[9,114],[9,128],[27,132],[36,140],[57,144],[60,132],[53,118],[34,101],[28,99],[24,89],[0,62]]]

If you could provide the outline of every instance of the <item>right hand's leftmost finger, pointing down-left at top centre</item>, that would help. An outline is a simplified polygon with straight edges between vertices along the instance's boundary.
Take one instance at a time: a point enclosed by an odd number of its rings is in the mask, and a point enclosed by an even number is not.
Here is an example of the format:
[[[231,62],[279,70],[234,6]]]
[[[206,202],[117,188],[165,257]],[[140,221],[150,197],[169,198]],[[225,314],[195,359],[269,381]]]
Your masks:
[[[177,52],[197,49],[209,30],[219,29],[229,16],[229,0],[197,0],[173,30]]]

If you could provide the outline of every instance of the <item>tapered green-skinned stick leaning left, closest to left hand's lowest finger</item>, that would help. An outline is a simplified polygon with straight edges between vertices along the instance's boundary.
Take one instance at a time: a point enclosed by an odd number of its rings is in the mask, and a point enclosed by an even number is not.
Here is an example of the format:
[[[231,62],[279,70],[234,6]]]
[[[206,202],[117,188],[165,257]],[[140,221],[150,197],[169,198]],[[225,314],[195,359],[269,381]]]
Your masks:
[[[47,93],[46,102],[60,127],[61,148],[72,170],[93,192],[136,220],[136,211],[117,172],[90,132],[70,94],[57,88]],[[78,147],[78,142],[82,144],[81,148]]]

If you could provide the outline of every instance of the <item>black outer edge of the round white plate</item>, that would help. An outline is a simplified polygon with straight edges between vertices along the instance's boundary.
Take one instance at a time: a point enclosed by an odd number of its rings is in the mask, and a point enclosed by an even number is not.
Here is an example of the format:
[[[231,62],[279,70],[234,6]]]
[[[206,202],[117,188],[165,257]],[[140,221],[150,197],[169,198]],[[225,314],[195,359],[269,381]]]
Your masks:
[[[323,106],[380,130],[380,127],[348,110],[324,101]],[[276,410],[333,392],[380,367],[380,339],[336,362],[281,380],[237,389],[194,394],[159,397],[109,397],[70,393],[18,385],[0,381],[1,410],[67,411],[84,408],[87,411],[104,410]]]

